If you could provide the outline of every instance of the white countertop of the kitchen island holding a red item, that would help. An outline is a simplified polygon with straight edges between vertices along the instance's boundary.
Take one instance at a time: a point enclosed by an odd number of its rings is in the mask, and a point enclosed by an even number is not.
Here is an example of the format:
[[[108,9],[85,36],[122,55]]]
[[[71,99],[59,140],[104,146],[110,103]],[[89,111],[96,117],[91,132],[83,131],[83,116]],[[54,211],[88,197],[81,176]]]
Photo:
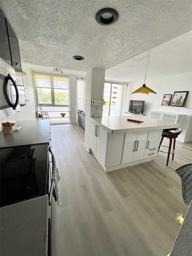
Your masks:
[[[136,123],[127,121],[127,119],[136,119],[144,121],[143,123]],[[100,126],[111,134],[136,132],[136,131],[150,131],[160,129],[178,128],[179,124],[161,121],[158,119],[146,116],[103,116],[90,117],[90,121]]]

